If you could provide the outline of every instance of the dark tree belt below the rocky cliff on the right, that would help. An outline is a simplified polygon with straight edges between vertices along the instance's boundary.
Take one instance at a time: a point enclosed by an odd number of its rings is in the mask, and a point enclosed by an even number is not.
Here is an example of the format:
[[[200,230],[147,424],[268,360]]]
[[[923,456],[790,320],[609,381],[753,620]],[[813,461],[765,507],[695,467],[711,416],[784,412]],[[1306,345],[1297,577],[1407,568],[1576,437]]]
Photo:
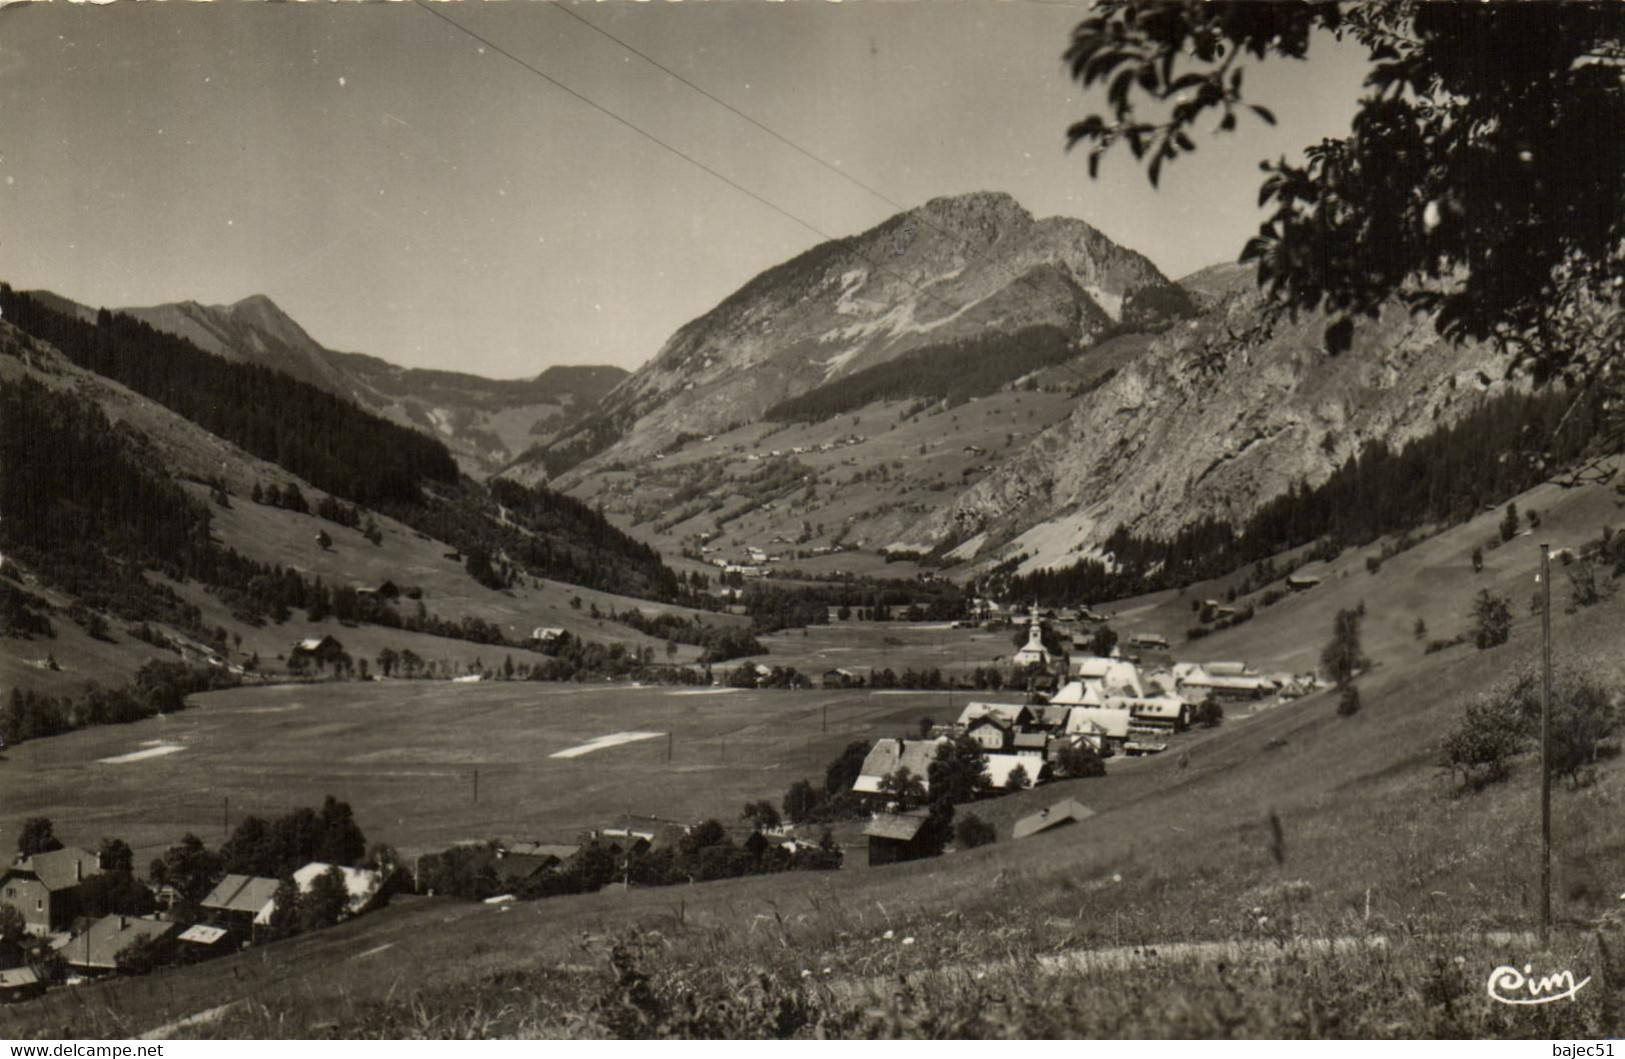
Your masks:
[[[1006,573],[990,591],[1045,603],[1121,599],[1222,577],[1292,547],[1318,544],[1326,559],[1383,534],[1464,521],[1580,461],[1602,416],[1594,401],[1558,390],[1503,393],[1404,448],[1373,442],[1320,486],[1294,484],[1240,528],[1204,518],[1170,539],[1118,528],[1103,544],[1110,562]]]

